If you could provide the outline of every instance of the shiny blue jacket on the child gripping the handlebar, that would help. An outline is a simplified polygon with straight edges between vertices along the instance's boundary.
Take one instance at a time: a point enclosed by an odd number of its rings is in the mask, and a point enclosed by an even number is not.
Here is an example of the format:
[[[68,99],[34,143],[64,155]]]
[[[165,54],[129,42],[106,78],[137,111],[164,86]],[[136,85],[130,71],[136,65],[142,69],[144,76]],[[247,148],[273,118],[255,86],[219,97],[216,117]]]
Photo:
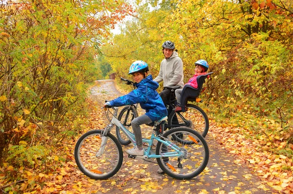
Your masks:
[[[141,80],[135,86],[137,89],[131,91],[127,95],[111,100],[111,106],[125,106],[140,103],[140,106],[146,110],[146,115],[152,121],[167,116],[167,109],[162,98],[156,91],[159,84],[152,80],[151,75]]]

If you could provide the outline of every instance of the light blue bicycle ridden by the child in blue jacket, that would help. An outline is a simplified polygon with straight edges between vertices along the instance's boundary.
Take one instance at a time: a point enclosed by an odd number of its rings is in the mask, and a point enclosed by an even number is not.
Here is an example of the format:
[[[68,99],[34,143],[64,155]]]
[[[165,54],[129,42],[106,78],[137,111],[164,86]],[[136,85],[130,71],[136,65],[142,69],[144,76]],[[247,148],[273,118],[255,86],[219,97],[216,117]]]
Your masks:
[[[114,113],[110,111],[112,109]],[[113,116],[109,117],[109,113]],[[123,150],[118,139],[110,131],[114,125],[123,131],[135,145],[134,134],[116,118],[117,107],[105,107],[105,115],[110,121],[104,130],[91,130],[82,135],[74,150],[77,166],[84,175],[93,179],[107,179],[115,175],[122,166]],[[167,116],[154,122],[154,131],[149,139],[143,138],[147,144],[143,156],[128,155],[129,158],[156,158],[160,168],[169,176],[177,179],[190,179],[199,175],[209,161],[209,148],[206,140],[198,132],[187,127],[176,127],[163,133]],[[160,127],[157,127],[160,126]],[[158,131],[159,129],[160,131]],[[176,133],[183,133],[191,144],[183,144],[172,140]],[[155,153],[152,147],[157,141]],[[147,161],[147,160],[146,160]]]

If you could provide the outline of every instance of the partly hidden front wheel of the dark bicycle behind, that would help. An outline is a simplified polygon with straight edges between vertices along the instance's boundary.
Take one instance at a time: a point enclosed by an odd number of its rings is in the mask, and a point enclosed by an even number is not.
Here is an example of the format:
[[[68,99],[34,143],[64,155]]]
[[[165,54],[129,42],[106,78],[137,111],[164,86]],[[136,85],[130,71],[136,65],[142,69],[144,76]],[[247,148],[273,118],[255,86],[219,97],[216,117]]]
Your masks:
[[[138,113],[135,106],[130,106],[130,108],[129,106],[126,106],[119,113],[118,120],[120,120],[120,122],[128,129],[128,131],[132,131],[131,121],[136,117],[138,117]],[[116,135],[122,145],[128,145],[131,143],[131,141],[122,131],[120,133],[119,127],[116,127]]]

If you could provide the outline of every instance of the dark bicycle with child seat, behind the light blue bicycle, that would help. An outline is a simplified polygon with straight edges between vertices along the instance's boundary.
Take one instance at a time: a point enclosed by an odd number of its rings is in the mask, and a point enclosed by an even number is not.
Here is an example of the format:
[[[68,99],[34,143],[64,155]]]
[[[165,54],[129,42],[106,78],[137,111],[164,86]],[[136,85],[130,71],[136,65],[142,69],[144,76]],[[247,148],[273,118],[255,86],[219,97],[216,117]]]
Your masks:
[[[181,104],[186,105],[187,111],[175,111],[176,99],[174,99],[174,92],[179,87],[167,87],[167,89],[171,90],[171,95],[169,96],[167,102],[167,109],[170,108],[172,109],[172,111],[168,115],[168,123],[167,125],[165,125],[165,130],[182,126],[186,126],[189,128],[196,127],[196,131],[198,131],[203,137],[207,136],[209,131],[209,118],[203,109],[195,104],[192,104],[192,102],[202,102],[202,99],[198,98],[198,96],[205,90],[205,88],[202,89],[203,83],[205,82],[205,79],[212,73],[213,72],[210,72],[207,75],[202,75],[198,77],[198,89],[188,88],[188,85],[184,87],[184,90],[186,91],[185,93],[187,95],[182,95]],[[121,78],[121,80],[125,81],[127,85],[133,85],[134,83],[125,78]],[[133,89],[135,89],[134,86]],[[184,90],[182,91],[182,94],[184,94]],[[190,101],[191,103],[188,103],[188,101]],[[128,130],[130,130],[131,121],[138,116],[137,106],[138,104],[127,105],[119,113],[118,119],[122,121],[124,126],[128,127]],[[118,127],[116,127],[116,135],[122,145],[128,145],[131,143],[131,141],[128,140],[124,134],[120,133]],[[184,141],[180,138],[182,135],[177,134],[177,136],[177,139],[179,141]]]

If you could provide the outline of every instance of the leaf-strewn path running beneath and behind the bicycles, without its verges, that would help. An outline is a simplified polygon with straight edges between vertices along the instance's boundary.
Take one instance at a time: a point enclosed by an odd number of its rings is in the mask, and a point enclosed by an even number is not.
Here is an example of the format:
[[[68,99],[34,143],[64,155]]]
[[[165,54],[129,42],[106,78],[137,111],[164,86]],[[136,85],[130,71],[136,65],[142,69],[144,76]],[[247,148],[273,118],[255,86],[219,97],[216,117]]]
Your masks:
[[[122,94],[115,88],[113,80],[99,80],[91,88],[91,98],[101,105],[105,99],[114,99]],[[107,120],[101,114],[100,119]],[[150,133],[144,128],[143,134]],[[111,131],[115,134],[115,130]],[[124,162],[120,171],[108,180],[90,180],[92,186],[89,193],[129,193],[129,194],[272,194],[263,185],[258,176],[237,157],[229,154],[222,143],[217,140],[215,123],[210,123],[206,137],[210,157],[205,171],[191,180],[177,180],[165,174],[157,174],[158,165],[142,159],[131,159],[124,154]],[[123,146],[124,151],[132,145]],[[155,160],[154,160],[155,161]],[[79,174],[82,178],[86,176]],[[88,191],[89,191],[88,190]]]

